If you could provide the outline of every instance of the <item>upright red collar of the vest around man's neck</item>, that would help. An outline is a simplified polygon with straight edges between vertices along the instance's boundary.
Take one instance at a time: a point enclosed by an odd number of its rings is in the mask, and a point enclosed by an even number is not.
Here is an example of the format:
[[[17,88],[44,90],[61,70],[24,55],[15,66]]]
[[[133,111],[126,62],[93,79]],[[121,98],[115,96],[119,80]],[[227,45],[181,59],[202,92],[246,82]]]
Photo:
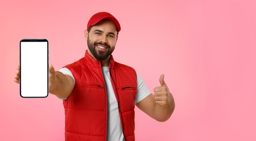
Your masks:
[[[85,62],[86,62],[87,65],[89,65],[89,66],[101,68],[101,61],[95,60],[95,59],[93,58],[93,56],[88,53],[87,50],[86,50],[86,52],[85,52]],[[109,67],[109,68],[113,68],[113,67],[114,67],[114,59],[113,59],[113,56],[112,56],[112,55],[110,55],[110,63],[109,63],[109,65],[108,65],[108,67]]]

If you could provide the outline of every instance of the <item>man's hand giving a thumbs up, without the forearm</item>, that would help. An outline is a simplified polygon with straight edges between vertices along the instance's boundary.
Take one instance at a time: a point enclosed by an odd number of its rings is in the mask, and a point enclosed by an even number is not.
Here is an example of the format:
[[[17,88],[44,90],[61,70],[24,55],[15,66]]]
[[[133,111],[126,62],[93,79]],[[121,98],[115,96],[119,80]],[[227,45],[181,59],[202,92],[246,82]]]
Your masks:
[[[174,99],[172,98],[171,93],[167,85],[164,82],[164,75],[160,76],[159,82],[161,86],[154,88],[154,96],[156,100],[156,104],[160,106],[170,106],[174,104]]]

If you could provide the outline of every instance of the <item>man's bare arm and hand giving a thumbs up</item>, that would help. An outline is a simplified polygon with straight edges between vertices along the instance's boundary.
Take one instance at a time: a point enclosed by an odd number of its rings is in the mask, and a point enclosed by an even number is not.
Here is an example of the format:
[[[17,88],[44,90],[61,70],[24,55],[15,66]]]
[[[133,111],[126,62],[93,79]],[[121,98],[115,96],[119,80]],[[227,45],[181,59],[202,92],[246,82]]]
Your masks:
[[[160,76],[161,86],[154,89],[154,94],[139,101],[136,106],[157,121],[167,121],[174,112],[175,102],[167,85],[164,82],[164,75]]]

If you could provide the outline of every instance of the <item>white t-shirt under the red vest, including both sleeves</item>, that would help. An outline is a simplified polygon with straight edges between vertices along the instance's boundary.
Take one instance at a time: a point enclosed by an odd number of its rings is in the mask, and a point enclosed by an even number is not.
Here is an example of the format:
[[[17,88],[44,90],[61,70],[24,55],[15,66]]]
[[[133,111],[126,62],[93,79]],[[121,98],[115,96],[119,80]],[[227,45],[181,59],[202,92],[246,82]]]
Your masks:
[[[111,84],[110,73],[108,67],[102,67],[105,84],[107,87],[108,96],[108,129],[107,140],[124,140],[123,131],[121,129],[121,123],[119,118],[118,104],[116,96],[114,95],[113,87]],[[63,74],[71,76],[75,82],[75,78],[68,68],[61,68],[59,70]],[[151,92],[144,84],[144,81],[137,74],[137,95],[135,98],[135,104],[144,98],[148,97]]]

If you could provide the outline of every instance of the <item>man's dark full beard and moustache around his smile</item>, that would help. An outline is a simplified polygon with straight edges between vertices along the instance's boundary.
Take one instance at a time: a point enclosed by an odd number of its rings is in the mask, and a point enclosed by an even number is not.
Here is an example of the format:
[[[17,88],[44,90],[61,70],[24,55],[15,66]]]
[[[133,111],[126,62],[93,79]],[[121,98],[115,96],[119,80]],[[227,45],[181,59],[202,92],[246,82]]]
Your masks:
[[[105,52],[101,51],[101,50],[97,50],[97,44],[106,46],[107,49]],[[87,40],[87,46],[88,49],[91,51],[91,53],[93,54],[93,56],[95,57],[95,59],[99,60],[99,61],[104,61],[107,59],[108,56],[110,56],[113,51],[114,51],[114,46],[110,47],[110,45],[108,45],[107,43],[103,43],[103,42],[91,42],[91,40]]]

